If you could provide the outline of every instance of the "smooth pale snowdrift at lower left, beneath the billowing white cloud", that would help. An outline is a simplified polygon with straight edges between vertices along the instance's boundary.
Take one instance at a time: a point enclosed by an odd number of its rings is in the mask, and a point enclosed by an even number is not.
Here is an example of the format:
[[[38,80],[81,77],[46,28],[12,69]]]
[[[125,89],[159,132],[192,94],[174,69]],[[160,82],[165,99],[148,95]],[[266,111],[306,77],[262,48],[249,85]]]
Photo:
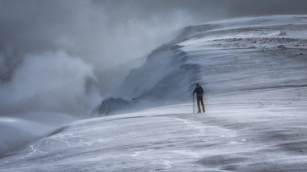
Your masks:
[[[24,113],[0,117],[0,155],[48,136],[78,118],[63,113]]]

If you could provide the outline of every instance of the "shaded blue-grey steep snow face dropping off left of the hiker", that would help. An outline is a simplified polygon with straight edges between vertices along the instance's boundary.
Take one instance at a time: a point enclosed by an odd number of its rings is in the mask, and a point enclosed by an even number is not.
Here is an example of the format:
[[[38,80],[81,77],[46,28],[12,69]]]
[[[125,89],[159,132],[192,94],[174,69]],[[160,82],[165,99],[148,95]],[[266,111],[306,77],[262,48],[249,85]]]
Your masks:
[[[182,90],[187,89],[185,80],[182,84],[178,83],[182,81],[182,78],[186,78],[184,76],[186,73],[185,70],[179,68],[180,62],[177,57],[180,56],[180,53],[174,52],[171,47],[183,39],[219,27],[221,27],[219,24],[202,24],[183,28],[171,42],[153,50],[144,65],[131,70],[125,81],[110,96],[130,100],[139,96],[143,98],[150,96],[151,98],[154,94],[154,98],[157,99],[165,98],[165,94],[168,95],[167,92],[172,90],[172,87],[177,88],[177,84],[184,86]],[[179,91],[174,90],[172,94],[174,93],[177,93],[175,95],[177,98],[181,97]]]

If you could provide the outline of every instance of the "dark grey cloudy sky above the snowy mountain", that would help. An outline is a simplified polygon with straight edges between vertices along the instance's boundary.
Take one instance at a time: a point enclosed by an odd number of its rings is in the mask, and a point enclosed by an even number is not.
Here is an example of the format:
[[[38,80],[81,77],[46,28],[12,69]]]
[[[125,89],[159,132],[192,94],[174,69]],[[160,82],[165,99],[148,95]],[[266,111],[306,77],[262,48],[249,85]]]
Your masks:
[[[87,90],[83,99],[92,81],[111,75],[105,69],[149,54],[182,27],[273,14],[307,14],[307,1],[0,0],[0,93],[14,104],[35,92],[60,89],[69,78],[85,85],[75,90]],[[21,96],[32,84],[37,90]]]

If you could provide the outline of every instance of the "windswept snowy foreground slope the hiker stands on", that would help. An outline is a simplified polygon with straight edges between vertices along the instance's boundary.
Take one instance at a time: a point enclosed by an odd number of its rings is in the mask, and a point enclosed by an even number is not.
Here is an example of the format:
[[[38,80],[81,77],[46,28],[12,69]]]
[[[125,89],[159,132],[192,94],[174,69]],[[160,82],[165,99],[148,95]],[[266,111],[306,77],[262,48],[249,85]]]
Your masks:
[[[202,114],[190,103],[79,121],[2,157],[1,171],[306,171],[306,94],[246,91],[207,98]]]

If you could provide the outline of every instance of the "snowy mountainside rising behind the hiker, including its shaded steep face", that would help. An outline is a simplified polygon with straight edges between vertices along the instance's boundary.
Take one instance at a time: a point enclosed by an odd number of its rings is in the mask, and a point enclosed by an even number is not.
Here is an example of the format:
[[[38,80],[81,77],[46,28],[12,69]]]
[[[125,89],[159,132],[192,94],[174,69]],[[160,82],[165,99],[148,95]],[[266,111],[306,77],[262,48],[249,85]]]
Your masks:
[[[306,86],[306,15],[243,17],[183,29],[131,70],[91,116],[187,102],[199,82],[207,97]],[[280,48],[279,48],[280,47]],[[134,100],[132,101],[132,99]],[[100,109],[100,111],[99,111]]]

